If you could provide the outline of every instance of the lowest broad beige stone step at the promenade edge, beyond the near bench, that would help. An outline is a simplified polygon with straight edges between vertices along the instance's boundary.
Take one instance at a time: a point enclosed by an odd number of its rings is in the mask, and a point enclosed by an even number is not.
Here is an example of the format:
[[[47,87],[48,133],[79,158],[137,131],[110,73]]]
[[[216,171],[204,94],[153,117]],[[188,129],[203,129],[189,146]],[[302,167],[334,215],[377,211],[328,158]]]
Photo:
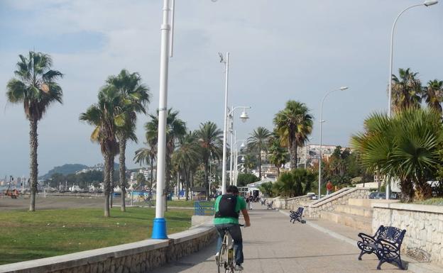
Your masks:
[[[355,228],[356,230],[359,230],[359,232],[372,234],[372,218],[369,217],[338,211],[322,211],[320,213],[320,218]]]

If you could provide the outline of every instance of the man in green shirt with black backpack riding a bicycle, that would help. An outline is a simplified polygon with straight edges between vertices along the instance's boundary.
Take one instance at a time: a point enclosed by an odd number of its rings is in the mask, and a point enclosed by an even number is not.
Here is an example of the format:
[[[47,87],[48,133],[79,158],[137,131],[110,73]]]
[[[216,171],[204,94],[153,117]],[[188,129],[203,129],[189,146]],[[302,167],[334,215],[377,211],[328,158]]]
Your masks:
[[[214,225],[219,233],[217,240],[217,254],[216,260],[219,256],[220,247],[222,247],[222,240],[224,237],[224,228],[228,228],[234,240],[234,255],[235,255],[235,269],[243,270],[241,264],[243,263],[243,239],[241,238],[241,230],[239,225],[239,213],[243,214],[245,220],[245,227],[251,225],[249,221],[248,210],[246,209],[246,201],[239,196],[239,189],[236,186],[228,186],[226,194],[218,196],[214,204]]]

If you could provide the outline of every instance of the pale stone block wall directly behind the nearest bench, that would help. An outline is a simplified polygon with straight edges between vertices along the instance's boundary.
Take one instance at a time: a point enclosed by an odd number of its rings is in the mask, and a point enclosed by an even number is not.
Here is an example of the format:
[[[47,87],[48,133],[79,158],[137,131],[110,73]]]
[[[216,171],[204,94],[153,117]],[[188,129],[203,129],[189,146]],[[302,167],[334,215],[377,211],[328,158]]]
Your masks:
[[[443,265],[443,206],[372,204],[372,229],[390,225],[406,230],[402,252]]]

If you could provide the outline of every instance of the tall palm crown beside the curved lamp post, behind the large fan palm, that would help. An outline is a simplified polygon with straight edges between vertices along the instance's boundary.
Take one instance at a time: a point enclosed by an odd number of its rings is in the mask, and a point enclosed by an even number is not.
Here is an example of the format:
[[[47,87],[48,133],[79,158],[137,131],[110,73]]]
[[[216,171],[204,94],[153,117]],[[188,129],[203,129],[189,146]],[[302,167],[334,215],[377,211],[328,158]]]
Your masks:
[[[392,75],[392,104],[394,111],[409,107],[420,107],[422,101],[422,83],[417,79],[418,73],[408,69],[398,69],[400,79]]]

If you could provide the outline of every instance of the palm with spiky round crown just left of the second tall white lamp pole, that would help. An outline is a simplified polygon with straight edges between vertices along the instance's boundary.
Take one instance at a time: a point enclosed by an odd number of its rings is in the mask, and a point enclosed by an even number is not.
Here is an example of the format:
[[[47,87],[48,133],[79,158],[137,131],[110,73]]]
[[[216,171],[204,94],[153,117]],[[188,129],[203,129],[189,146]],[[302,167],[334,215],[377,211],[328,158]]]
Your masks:
[[[204,186],[206,188],[206,199],[209,200],[209,160],[211,157],[219,160],[222,155],[223,131],[217,128],[212,121],[200,123],[197,130],[200,146],[202,147],[202,162],[204,164]],[[212,156],[211,156],[212,155]]]

